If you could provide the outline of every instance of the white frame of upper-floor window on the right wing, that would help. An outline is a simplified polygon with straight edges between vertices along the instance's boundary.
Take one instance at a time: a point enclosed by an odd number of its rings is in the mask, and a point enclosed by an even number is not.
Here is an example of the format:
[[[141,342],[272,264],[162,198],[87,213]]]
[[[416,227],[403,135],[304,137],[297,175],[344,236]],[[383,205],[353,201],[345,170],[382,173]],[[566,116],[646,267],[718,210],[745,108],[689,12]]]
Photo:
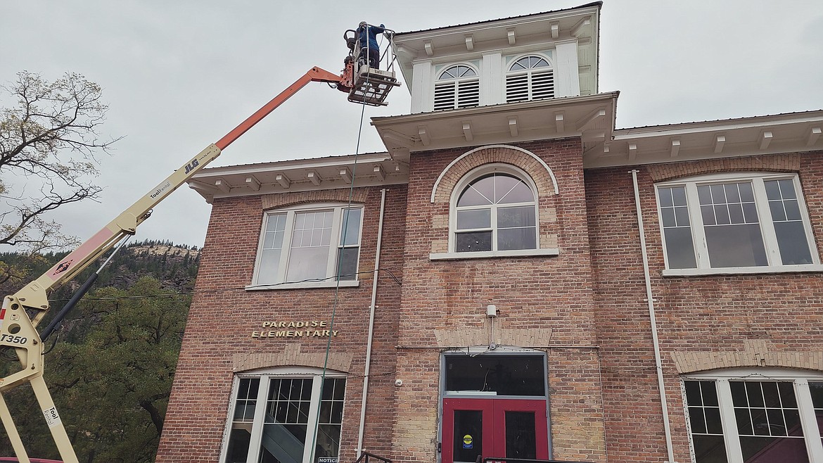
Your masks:
[[[797,264],[797,265],[783,265],[780,260],[779,246],[777,236],[774,232],[774,221],[772,220],[769,202],[765,197],[765,180],[793,180],[795,193],[797,194],[797,203],[800,206],[800,213],[803,221],[803,228],[806,232],[807,244],[811,253],[811,264]],[[768,264],[763,266],[753,267],[711,267],[709,263],[709,248],[705,239],[703,217],[700,213],[700,201],[697,196],[697,186],[715,183],[732,183],[732,182],[751,182],[754,194],[755,204],[757,208],[758,221],[760,223],[760,233],[763,236],[766,257]],[[663,230],[663,213],[660,206],[659,189],[671,188],[677,186],[686,187],[686,205],[689,210],[689,222],[691,229],[692,245],[695,249],[695,260],[697,267],[695,269],[670,269],[667,253],[667,245],[665,239],[665,232]],[[688,275],[707,275],[707,274],[766,274],[766,273],[784,273],[784,272],[804,272],[823,271],[823,265],[820,262],[820,256],[817,253],[817,246],[814,240],[814,234],[811,229],[811,222],[809,220],[809,213],[806,207],[806,201],[803,198],[802,187],[800,180],[795,173],[786,172],[735,172],[735,173],[719,173],[709,175],[698,175],[686,179],[678,179],[672,181],[665,181],[654,185],[654,194],[657,201],[658,226],[660,227],[660,240],[663,246],[663,260],[666,264],[666,269],[663,270],[664,276],[688,276]]]

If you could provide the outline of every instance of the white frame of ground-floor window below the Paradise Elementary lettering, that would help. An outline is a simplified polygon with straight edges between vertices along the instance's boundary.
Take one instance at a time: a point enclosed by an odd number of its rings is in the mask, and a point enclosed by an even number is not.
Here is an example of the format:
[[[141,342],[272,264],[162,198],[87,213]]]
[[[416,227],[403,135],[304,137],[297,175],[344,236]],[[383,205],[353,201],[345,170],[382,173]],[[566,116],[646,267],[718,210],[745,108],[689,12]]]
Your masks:
[[[346,389],[348,388],[348,378],[346,373],[326,370],[326,378],[345,379]],[[263,424],[265,421],[265,413],[267,406],[268,388],[271,385],[272,379],[308,379],[312,378],[312,396],[309,405],[309,419],[306,428],[309,432],[306,435],[306,445],[303,451],[303,461],[308,462],[314,448],[309,445],[309,442],[314,440],[309,438],[312,435],[317,424],[318,409],[320,406],[320,388],[323,386],[323,369],[315,367],[274,367],[258,370],[255,372],[244,372],[235,374],[235,380],[231,387],[231,400],[229,403],[229,414],[226,419],[226,428],[223,432],[223,440],[221,443],[220,463],[228,463],[229,440],[231,437],[232,424],[234,422],[235,404],[237,402],[237,393],[241,379],[258,378],[260,384],[258,386],[257,402],[254,409],[254,419],[252,423],[251,442],[249,442],[249,459],[247,463],[257,463],[259,458],[259,451],[263,439]],[[346,396],[344,395],[343,403],[346,403]],[[346,406],[343,406],[343,418],[341,423],[346,419]],[[341,430],[341,436],[343,431]],[[339,461],[340,456],[337,456]]]

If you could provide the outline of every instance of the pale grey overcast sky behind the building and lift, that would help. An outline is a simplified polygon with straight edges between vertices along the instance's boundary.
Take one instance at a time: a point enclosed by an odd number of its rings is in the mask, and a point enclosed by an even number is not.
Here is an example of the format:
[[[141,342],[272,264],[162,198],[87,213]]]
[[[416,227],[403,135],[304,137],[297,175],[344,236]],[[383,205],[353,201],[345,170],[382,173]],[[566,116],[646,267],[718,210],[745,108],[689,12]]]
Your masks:
[[[53,215],[86,240],[309,68],[338,72],[342,34],[361,20],[404,32],[584,3],[5,0],[0,82],[68,71],[104,88],[102,131],[125,138],[100,157],[100,203]],[[600,91],[621,91],[618,128],[823,109],[820,0],[606,0],[600,27]],[[360,152],[384,151],[368,118],[406,114],[405,84],[388,101],[366,108]],[[359,123],[359,105],[313,83],[212,166],[351,154]],[[209,211],[184,185],[137,239],[202,246]]]

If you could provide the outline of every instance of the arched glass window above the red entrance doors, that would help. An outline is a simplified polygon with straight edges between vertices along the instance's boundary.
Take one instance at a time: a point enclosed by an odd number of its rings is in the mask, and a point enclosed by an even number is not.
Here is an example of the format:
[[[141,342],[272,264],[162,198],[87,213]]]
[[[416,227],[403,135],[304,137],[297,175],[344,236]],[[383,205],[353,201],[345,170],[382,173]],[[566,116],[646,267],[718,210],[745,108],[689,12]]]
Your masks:
[[[524,178],[508,167],[486,166],[458,184],[455,252],[537,249],[537,201]]]

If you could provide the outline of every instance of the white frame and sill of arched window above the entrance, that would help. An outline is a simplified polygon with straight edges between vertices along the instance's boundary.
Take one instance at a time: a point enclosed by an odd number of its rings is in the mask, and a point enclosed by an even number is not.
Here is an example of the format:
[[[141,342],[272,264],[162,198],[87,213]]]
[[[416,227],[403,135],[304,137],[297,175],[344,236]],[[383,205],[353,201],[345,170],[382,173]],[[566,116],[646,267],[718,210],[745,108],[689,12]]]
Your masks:
[[[528,186],[529,189],[532,190],[532,194],[534,194],[534,209],[535,209],[535,248],[534,249],[524,249],[524,250],[495,250],[496,246],[496,233],[492,232],[492,250],[487,251],[477,251],[477,252],[457,252],[457,203],[458,199],[460,199],[460,194],[463,193],[463,190],[467,188],[467,186],[474,180],[478,178],[489,175],[489,174],[505,174],[505,175],[512,175],[517,177],[519,180],[523,180],[523,182]],[[445,253],[432,253],[429,255],[430,260],[461,260],[461,259],[481,259],[481,258],[488,258],[488,257],[509,257],[509,256],[529,256],[529,255],[558,255],[559,250],[557,248],[542,248],[540,246],[540,204],[539,204],[539,197],[537,194],[537,185],[534,184],[532,178],[523,170],[519,169],[518,167],[511,166],[509,164],[502,164],[502,163],[493,163],[493,164],[486,164],[485,166],[480,166],[474,169],[473,171],[468,172],[466,175],[463,175],[457,185],[454,186],[452,190],[451,198],[449,199],[449,251]],[[492,223],[492,230],[495,231],[496,221],[494,215],[491,217]]]

